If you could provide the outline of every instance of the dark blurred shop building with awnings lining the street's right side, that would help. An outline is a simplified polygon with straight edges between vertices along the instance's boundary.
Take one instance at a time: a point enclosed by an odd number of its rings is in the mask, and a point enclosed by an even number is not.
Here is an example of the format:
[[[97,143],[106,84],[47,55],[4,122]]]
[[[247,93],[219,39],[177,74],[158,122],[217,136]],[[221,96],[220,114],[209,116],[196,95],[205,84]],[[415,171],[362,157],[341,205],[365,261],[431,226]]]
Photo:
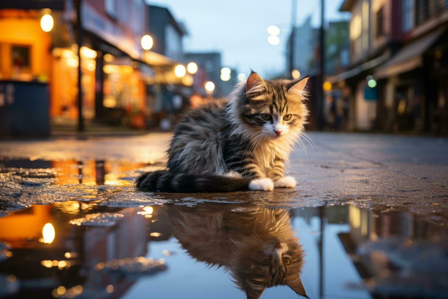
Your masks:
[[[349,129],[448,133],[447,1],[345,0]]]

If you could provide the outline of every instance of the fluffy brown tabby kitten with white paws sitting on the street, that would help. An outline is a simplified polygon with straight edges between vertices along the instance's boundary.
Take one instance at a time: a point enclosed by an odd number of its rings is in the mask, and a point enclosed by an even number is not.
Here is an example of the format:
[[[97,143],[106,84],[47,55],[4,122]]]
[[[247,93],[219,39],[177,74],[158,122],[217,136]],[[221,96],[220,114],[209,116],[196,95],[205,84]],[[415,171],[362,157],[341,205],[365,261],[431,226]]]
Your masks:
[[[187,113],[174,130],[168,169],[143,173],[137,186],[168,192],[293,188],[296,181],[284,177],[284,168],[306,123],[307,80],[263,80],[252,71],[230,100]]]

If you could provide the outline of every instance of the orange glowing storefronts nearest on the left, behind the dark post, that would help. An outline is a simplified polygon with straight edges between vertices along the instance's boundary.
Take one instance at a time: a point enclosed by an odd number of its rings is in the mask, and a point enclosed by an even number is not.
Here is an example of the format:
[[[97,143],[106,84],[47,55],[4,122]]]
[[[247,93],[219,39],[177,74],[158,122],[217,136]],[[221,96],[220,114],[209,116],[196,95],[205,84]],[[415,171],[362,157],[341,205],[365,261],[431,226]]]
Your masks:
[[[52,125],[75,128],[76,11],[72,5],[67,7],[69,1],[39,1],[36,5],[55,2],[60,3],[51,9],[0,5],[0,80],[46,83]],[[123,10],[126,15],[118,7],[107,7],[103,0],[83,1],[82,116],[87,124],[96,120],[143,128],[151,113],[146,84],[154,77],[151,68],[140,62],[145,4],[130,0],[120,5],[129,6]],[[136,14],[134,19],[131,13]]]

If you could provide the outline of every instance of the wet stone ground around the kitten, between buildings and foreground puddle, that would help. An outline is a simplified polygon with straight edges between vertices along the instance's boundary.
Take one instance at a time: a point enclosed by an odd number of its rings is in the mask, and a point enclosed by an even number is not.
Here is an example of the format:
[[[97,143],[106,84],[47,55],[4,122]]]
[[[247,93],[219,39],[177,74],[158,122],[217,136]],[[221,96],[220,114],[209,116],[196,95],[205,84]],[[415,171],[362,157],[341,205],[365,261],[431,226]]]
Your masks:
[[[377,212],[410,210],[434,224],[446,223],[448,139],[314,132],[309,135],[311,144],[304,140],[306,152],[297,146],[288,166],[289,174],[297,178],[295,189],[222,194],[144,193],[134,188],[132,181],[139,173],[163,167],[169,133],[5,141],[0,143],[0,209],[6,214],[30,204],[69,199],[97,200],[112,206],[182,200],[187,204],[214,201],[288,208],[343,201]],[[36,162],[67,160],[75,161],[81,169],[69,175],[74,179],[69,184],[61,181],[64,173],[58,164],[48,167]],[[115,175],[115,181],[95,181],[95,174],[82,170],[89,161],[97,165],[108,161],[113,165],[124,163],[127,167],[106,171],[106,177]],[[94,179],[89,180],[89,176]],[[83,180],[89,183],[79,184]]]

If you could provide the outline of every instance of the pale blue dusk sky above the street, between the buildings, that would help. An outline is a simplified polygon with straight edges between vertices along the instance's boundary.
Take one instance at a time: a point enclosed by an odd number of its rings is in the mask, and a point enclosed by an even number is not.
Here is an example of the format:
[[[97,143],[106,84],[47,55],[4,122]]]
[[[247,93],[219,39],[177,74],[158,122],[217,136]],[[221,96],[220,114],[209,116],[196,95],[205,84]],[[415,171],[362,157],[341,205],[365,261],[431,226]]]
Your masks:
[[[348,19],[340,13],[343,0],[326,0],[326,19]],[[189,36],[185,51],[220,51],[222,64],[249,73],[252,68],[262,76],[285,70],[286,40],[291,30],[290,0],[154,0],[146,1],[170,9],[184,22]],[[297,0],[297,25],[312,15],[314,26],[320,24],[320,0]],[[280,28],[280,44],[267,42],[267,26]]]

